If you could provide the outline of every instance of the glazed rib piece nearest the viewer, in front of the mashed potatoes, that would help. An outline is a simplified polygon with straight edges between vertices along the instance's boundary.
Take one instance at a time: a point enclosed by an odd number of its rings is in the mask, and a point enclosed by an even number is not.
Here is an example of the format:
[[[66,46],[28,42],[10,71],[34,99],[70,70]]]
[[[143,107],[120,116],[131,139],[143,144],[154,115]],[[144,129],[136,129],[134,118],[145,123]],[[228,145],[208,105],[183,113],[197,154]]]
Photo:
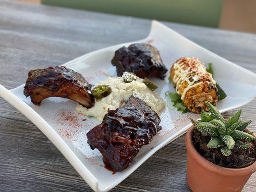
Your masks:
[[[144,101],[131,96],[123,108],[109,109],[102,123],[87,133],[88,144],[100,151],[106,166],[122,171],[162,129],[160,121]]]

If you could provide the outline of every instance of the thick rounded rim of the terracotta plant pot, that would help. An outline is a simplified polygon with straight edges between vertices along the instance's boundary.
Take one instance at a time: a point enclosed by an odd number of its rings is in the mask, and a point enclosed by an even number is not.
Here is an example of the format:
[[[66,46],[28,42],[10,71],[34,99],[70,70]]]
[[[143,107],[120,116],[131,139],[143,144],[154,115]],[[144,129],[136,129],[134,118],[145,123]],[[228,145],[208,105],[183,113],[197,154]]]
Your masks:
[[[192,133],[194,132],[195,128],[192,125],[188,132],[186,133],[186,148],[188,153],[191,155],[191,157],[197,161],[202,167],[208,169],[210,172],[214,172],[218,175],[224,175],[227,177],[242,177],[245,175],[250,175],[256,171],[256,161],[245,168],[224,168],[219,165],[216,165],[207,159],[205,159],[203,156],[201,156],[195,149],[193,143],[192,143]],[[246,132],[250,132],[250,130],[245,129]],[[256,137],[255,134],[253,134],[254,137]],[[255,140],[256,143],[256,140]]]

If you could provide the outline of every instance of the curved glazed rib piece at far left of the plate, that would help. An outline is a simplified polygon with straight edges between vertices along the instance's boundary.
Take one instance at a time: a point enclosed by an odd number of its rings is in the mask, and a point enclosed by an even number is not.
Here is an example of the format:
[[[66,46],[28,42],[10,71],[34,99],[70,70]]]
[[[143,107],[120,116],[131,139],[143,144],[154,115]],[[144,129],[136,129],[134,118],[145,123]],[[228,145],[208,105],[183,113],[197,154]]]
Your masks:
[[[87,92],[91,86],[80,73],[65,66],[49,67],[28,72],[24,95],[30,96],[35,105],[40,105],[45,98],[58,96],[90,108],[94,104],[94,97]]]

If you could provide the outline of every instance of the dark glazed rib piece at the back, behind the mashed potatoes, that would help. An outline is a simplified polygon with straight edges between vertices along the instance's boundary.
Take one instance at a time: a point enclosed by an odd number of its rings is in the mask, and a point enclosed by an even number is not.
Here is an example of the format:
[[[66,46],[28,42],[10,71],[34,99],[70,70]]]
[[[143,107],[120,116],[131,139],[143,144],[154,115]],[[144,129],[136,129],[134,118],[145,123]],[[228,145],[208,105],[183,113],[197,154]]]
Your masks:
[[[118,76],[123,72],[134,72],[138,77],[158,77],[163,79],[167,69],[157,48],[146,44],[131,44],[115,51],[112,65],[116,66]]]

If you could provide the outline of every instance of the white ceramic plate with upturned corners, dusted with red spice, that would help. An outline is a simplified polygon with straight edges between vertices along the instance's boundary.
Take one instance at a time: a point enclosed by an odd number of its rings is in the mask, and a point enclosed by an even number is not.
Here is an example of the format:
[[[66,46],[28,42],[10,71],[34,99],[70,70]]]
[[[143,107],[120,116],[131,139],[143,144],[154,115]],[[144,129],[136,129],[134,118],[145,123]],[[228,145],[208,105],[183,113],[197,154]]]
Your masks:
[[[256,96],[255,73],[198,46],[163,24],[153,21],[149,36],[136,42],[146,42],[157,47],[168,69],[173,62],[184,56],[193,56],[204,63],[213,63],[214,79],[228,95],[217,104],[221,112],[240,107]],[[82,73],[91,84],[96,84],[110,75],[116,75],[115,68],[110,63],[114,51],[131,43],[134,42],[100,49],[64,65]],[[164,96],[168,90],[174,92],[172,84],[168,83],[168,76],[167,73],[165,81],[153,79],[159,87],[156,91],[171,106],[166,107],[160,115],[163,130],[150,144],[142,147],[128,168],[113,175],[103,167],[102,156],[98,150],[91,150],[87,144],[86,133],[100,122],[95,118],[77,114],[77,103],[52,97],[43,100],[40,107],[35,106],[30,98],[23,95],[24,85],[10,91],[0,85],[0,96],[21,111],[55,144],[93,190],[106,192],[128,177],[158,149],[186,132],[191,125],[190,117],[199,118],[197,114],[182,114],[172,108],[170,99]]]

